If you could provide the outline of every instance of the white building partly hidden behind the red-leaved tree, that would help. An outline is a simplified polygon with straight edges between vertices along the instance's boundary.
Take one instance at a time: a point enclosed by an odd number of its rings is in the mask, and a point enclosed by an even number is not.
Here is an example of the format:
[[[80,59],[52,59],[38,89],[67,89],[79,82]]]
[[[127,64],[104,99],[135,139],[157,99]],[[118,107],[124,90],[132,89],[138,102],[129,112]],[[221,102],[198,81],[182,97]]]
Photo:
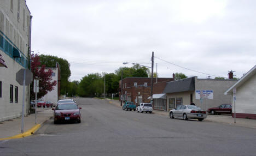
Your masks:
[[[44,101],[52,101],[55,105],[57,104],[57,101],[59,100],[60,96],[60,67],[59,64],[56,63],[55,68],[45,68],[45,71],[48,71],[49,69],[53,70],[53,74],[51,74],[51,82],[56,81],[57,84],[54,86],[53,91],[48,92],[44,97],[42,98]]]

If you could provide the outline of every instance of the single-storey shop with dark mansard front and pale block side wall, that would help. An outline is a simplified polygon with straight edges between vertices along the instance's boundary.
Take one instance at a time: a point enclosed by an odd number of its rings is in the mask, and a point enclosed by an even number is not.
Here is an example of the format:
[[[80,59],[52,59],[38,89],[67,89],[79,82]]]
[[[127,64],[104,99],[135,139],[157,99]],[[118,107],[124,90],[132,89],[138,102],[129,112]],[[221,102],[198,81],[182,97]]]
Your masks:
[[[178,105],[190,105],[191,102],[207,110],[210,107],[216,107],[221,104],[231,104],[231,95],[224,95],[226,89],[236,83],[237,80],[216,80],[216,79],[197,79],[190,77],[172,82],[167,82],[163,91],[166,94],[167,111],[170,111]],[[196,91],[212,91],[212,99],[200,99]]]

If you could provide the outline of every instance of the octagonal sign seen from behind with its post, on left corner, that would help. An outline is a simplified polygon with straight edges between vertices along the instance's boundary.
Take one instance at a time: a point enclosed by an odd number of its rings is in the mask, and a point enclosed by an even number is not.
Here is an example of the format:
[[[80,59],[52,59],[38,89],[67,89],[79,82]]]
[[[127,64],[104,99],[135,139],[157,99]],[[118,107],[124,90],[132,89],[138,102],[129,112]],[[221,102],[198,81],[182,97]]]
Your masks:
[[[25,86],[30,85],[32,79],[33,74],[29,69],[20,69],[16,73],[16,81],[23,86],[21,133],[24,133]]]

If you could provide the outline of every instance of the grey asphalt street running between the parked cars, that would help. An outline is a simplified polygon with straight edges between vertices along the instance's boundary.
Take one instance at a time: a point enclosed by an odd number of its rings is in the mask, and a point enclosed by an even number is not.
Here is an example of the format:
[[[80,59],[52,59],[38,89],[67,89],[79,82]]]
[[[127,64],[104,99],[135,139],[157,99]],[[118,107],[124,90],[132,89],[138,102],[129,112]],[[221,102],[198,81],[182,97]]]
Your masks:
[[[81,123],[46,122],[36,134],[0,141],[0,155],[256,155],[256,130],[77,98]]]

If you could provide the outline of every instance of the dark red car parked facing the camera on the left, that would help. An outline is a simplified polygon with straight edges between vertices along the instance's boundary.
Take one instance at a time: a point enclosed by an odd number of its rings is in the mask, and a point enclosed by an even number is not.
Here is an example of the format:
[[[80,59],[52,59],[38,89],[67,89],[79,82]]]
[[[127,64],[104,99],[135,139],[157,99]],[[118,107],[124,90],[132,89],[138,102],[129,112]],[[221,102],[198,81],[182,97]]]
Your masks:
[[[54,124],[59,121],[77,121],[81,122],[81,107],[78,107],[75,103],[63,103],[58,104],[54,110]]]

